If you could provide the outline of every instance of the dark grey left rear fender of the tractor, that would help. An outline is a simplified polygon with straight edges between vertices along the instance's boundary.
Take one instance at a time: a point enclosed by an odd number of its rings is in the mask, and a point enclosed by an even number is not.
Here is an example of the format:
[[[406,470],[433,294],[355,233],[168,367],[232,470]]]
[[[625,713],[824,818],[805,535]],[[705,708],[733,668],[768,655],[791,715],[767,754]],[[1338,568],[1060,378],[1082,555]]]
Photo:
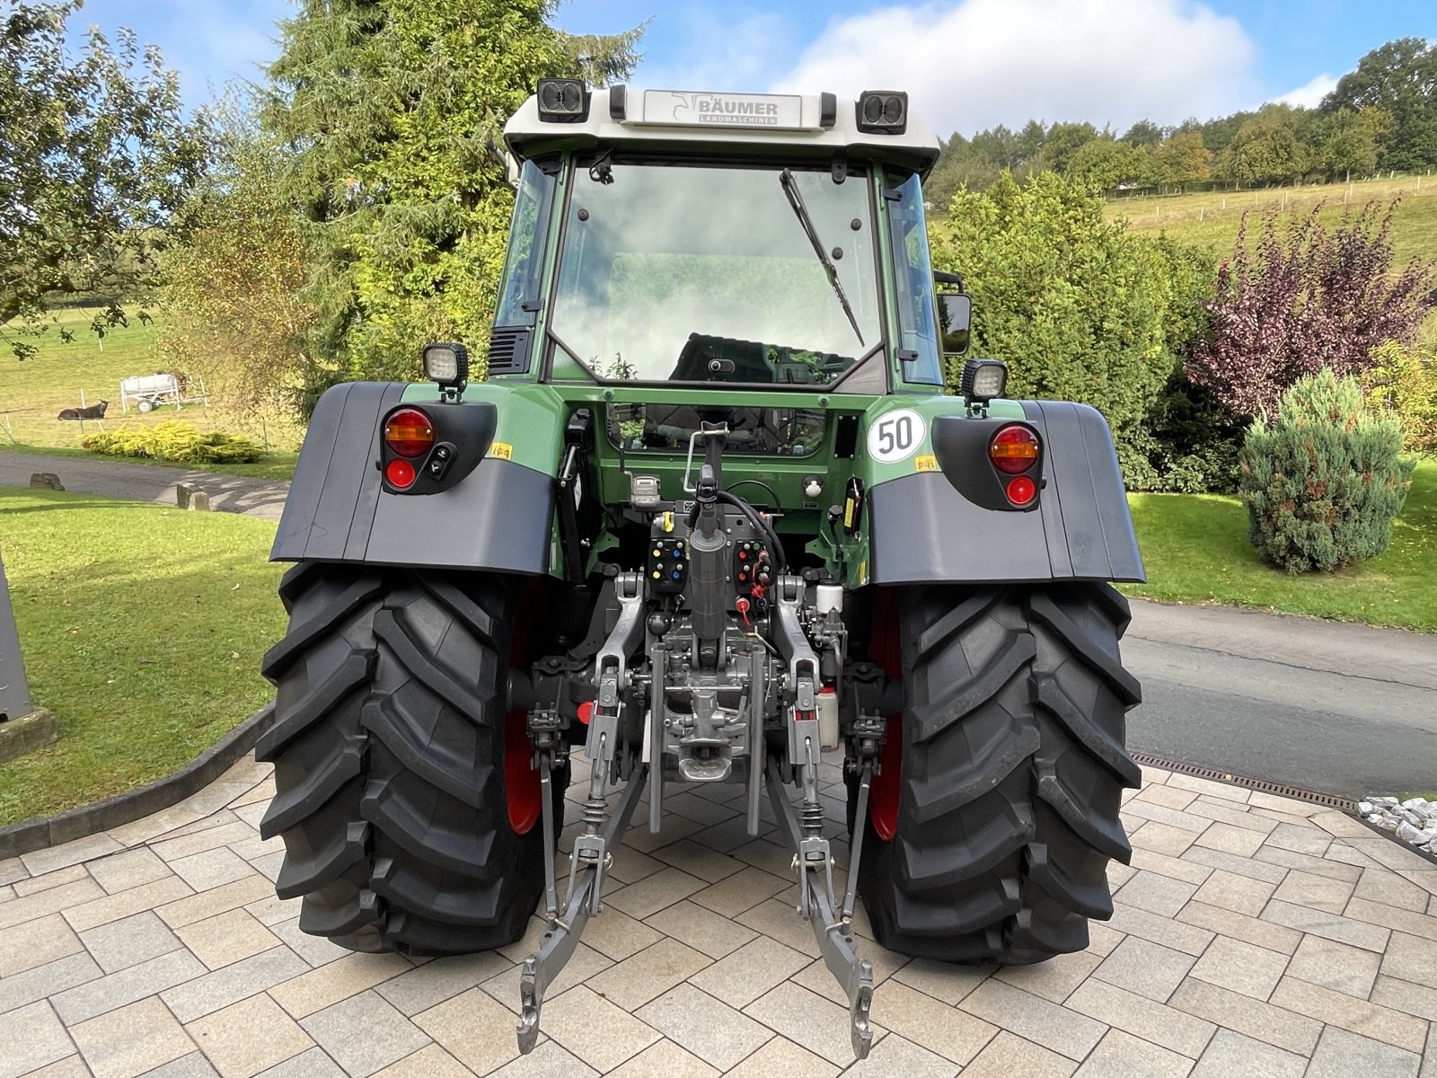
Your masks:
[[[381,420],[407,388],[342,382],[319,398],[270,561],[546,573],[555,482],[483,456],[494,433],[494,404],[425,402],[440,437],[466,453],[434,493],[384,489]]]

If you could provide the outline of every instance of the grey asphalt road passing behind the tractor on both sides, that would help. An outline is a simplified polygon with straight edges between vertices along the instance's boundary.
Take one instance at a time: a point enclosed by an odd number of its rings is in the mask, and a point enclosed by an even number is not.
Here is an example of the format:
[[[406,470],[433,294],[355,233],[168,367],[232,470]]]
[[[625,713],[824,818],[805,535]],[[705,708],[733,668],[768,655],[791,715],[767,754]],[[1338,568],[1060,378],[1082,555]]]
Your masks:
[[[277,520],[287,483],[0,453],[0,484],[53,471],[69,490]],[[1142,680],[1128,745],[1170,760],[1361,796],[1437,789],[1437,635],[1209,607],[1132,604],[1122,642]]]

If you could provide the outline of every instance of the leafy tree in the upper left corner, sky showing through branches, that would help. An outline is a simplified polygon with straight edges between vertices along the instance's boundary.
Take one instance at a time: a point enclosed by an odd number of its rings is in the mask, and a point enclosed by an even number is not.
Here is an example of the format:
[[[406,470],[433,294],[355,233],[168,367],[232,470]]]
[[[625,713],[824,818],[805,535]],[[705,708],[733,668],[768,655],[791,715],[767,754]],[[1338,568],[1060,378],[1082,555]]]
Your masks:
[[[207,154],[204,116],[185,118],[157,49],[92,29],[69,53],[76,10],[0,4],[0,338],[20,359],[56,295],[109,299],[99,331],[124,319],[116,300],[154,283]]]

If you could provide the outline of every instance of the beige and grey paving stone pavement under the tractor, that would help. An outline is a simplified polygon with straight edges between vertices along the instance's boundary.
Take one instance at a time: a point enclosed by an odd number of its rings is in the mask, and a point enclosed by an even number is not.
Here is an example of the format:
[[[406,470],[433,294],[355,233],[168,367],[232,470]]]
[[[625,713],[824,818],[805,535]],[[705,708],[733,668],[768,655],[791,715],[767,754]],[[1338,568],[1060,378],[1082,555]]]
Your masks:
[[[838,838],[832,760],[823,779]],[[1145,770],[1114,918],[1040,966],[908,960],[859,917],[879,986],[855,1064],[789,855],[769,818],[744,834],[737,788],[629,832],[529,1056],[517,963],[539,921],[438,960],[305,936],[256,829],[273,789],[246,759],[154,816],[0,861],[0,1078],[1437,1078],[1437,865],[1303,802]]]

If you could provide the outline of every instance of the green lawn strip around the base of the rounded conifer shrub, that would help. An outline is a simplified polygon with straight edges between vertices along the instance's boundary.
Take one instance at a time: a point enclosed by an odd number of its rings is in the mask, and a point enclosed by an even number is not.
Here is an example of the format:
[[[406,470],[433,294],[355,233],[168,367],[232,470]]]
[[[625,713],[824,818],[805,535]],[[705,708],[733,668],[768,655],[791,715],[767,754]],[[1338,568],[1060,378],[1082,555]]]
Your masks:
[[[1413,476],[1385,553],[1335,573],[1290,576],[1247,542],[1247,510],[1217,494],[1131,494],[1150,584],[1129,595],[1365,621],[1437,632],[1437,460]]]

